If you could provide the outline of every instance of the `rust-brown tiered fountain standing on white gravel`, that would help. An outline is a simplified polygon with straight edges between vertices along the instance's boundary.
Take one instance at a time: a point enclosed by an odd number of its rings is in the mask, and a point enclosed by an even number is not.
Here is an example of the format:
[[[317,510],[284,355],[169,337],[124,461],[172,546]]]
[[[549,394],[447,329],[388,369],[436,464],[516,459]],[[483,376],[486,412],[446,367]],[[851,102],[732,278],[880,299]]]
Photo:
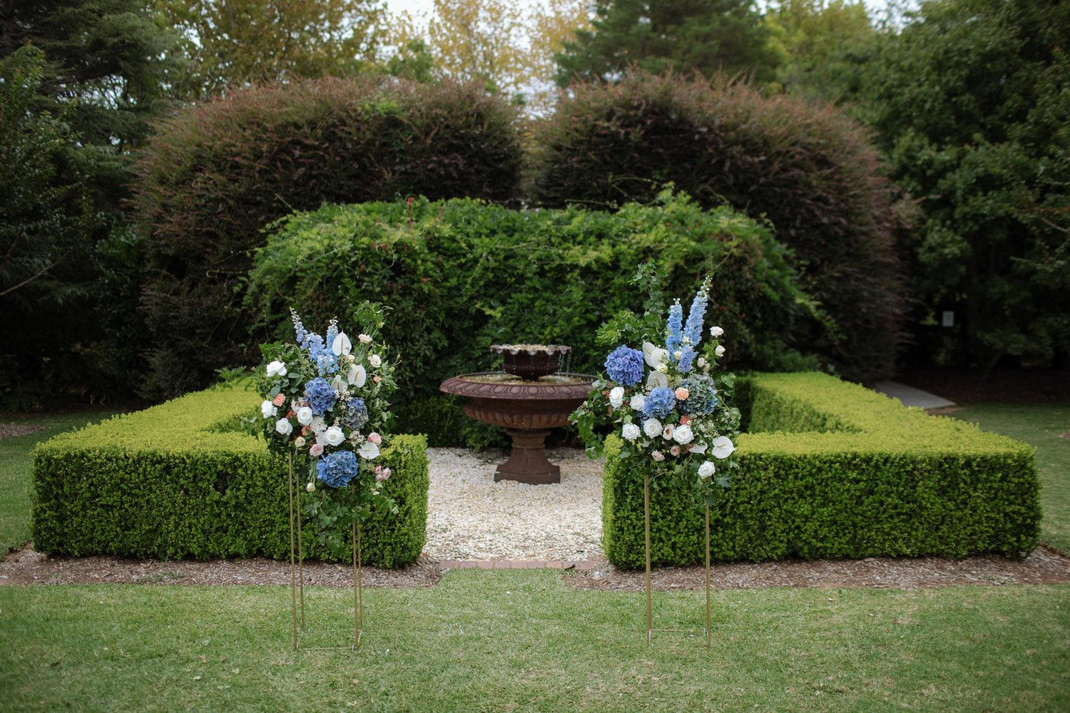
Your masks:
[[[546,458],[550,429],[564,425],[591,392],[591,374],[559,373],[571,347],[562,344],[494,344],[504,371],[480,371],[447,378],[446,393],[467,397],[464,413],[500,425],[513,439],[509,459],[498,466],[494,482],[560,483],[561,467]]]

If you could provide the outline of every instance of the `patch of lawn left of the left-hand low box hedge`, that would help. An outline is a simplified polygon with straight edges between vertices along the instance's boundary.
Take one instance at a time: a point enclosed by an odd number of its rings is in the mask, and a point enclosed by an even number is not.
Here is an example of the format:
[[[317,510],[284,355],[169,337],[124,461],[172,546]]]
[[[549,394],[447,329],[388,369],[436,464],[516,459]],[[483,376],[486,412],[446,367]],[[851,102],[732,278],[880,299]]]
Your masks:
[[[113,410],[55,414],[19,419],[17,423],[45,427],[16,438],[0,438],[0,555],[17,549],[30,539],[30,492],[33,489],[30,453],[57,433],[100,421]]]

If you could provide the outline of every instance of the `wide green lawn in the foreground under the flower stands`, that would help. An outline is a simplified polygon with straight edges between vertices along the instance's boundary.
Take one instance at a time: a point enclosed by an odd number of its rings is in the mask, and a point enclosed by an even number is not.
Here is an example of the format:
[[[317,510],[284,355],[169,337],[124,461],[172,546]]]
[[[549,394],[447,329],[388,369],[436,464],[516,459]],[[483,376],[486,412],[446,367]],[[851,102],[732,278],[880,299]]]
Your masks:
[[[19,710],[1068,710],[1070,587],[714,593],[715,644],[547,570],[366,592],[360,651],[290,650],[281,587],[0,588]],[[309,590],[343,641],[351,590]],[[655,593],[701,626],[702,592]]]

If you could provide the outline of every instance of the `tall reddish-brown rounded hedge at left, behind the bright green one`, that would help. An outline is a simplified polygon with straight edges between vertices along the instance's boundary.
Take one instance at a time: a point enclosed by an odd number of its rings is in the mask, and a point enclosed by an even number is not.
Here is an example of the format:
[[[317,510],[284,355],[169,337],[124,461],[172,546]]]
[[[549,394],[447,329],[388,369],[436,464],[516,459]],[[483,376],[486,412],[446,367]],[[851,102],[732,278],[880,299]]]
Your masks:
[[[149,236],[143,393],[201,388],[255,352],[242,286],[271,221],[324,202],[513,198],[515,117],[477,86],[360,78],[255,88],[157,124],[133,185]]]

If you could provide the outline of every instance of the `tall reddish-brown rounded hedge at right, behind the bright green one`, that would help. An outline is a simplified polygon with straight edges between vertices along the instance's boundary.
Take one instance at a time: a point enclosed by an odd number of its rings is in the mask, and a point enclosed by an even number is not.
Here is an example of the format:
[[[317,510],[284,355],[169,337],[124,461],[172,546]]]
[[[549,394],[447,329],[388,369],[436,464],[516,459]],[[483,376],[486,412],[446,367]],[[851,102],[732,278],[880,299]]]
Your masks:
[[[889,185],[863,129],[832,108],[722,80],[636,75],[569,88],[539,125],[542,205],[646,201],[667,181],[771,221],[840,327],[814,345],[852,379],[886,375],[902,285]]]

